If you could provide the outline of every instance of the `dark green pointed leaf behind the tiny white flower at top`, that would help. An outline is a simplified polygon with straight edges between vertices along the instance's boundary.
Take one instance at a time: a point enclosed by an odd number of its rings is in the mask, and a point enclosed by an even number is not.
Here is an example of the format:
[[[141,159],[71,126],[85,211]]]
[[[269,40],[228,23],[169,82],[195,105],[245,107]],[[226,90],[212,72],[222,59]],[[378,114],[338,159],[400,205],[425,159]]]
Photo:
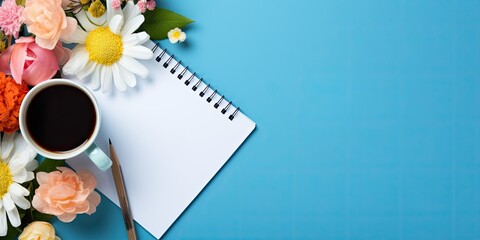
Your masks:
[[[139,32],[147,32],[152,40],[165,39],[168,31],[176,27],[183,28],[194,22],[187,17],[163,8],[146,11],[143,16],[145,16],[145,22],[140,27]]]

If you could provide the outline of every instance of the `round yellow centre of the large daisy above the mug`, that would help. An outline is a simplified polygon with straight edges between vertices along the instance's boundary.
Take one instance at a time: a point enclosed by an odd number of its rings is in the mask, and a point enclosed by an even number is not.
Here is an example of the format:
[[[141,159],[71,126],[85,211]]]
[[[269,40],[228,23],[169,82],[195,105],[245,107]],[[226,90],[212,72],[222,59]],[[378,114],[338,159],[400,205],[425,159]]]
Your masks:
[[[88,34],[86,42],[89,58],[103,65],[112,65],[122,57],[122,38],[108,27],[99,27]]]

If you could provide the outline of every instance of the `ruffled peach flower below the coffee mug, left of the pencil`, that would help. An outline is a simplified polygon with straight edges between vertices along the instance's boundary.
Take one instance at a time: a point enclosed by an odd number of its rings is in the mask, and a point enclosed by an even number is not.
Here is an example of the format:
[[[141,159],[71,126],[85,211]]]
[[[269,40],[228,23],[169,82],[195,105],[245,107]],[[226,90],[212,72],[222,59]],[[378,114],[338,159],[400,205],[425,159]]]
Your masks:
[[[95,177],[86,170],[75,173],[65,167],[50,173],[38,172],[40,185],[35,190],[32,205],[39,212],[55,215],[62,222],[71,222],[77,214],[91,215],[100,203],[95,192]]]

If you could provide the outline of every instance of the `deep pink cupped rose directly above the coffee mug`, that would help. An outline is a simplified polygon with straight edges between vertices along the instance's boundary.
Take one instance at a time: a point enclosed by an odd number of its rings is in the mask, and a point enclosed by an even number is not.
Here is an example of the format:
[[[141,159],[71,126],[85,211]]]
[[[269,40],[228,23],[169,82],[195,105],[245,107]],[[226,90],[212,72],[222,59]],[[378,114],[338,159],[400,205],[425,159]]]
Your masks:
[[[23,80],[34,86],[51,79],[69,56],[70,50],[60,44],[48,50],[39,47],[33,37],[21,37],[0,54],[0,71],[12,75],[18,84]]]

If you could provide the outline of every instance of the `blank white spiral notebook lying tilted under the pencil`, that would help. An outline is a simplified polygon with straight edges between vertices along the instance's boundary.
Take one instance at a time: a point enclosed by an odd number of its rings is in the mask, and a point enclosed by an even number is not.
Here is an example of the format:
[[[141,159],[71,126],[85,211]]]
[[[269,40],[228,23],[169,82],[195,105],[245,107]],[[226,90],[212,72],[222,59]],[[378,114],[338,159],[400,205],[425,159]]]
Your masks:
[[[149,78],[126,92],[94,92],[102,126],[97,145],[108,153],[112,139],[120,159],[134,219],[160,238],[202,191],[255,123],[221,92],[153,42],[155,58],[141,61]],[[117,206],[110,171],[84,155],[67,161],[89,169],[97,189]],[[118,221],[122,221],[118,219]]]

